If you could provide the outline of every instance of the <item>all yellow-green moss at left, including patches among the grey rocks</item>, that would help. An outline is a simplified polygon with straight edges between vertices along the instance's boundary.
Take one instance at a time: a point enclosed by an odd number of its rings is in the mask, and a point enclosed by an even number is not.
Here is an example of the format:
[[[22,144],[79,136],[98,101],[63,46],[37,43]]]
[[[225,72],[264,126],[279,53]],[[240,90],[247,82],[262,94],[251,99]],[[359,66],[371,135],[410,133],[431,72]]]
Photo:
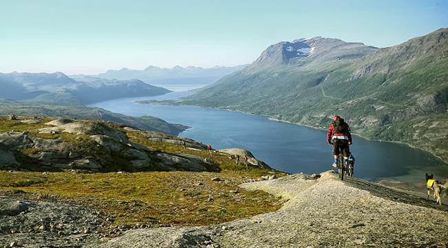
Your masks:
[[[39,119],[42,123],[49,118]],[[61,138],[76,146],[76,152],[98,156],[104,149],[87,135],[39,134],[37,130],[46,127],[39,124],[23,124],[0,118],[0,130],[28,131],[39,138]],[[125,132],[122,126],[107,123]],[[115,216],[115,224],[151,226],[168,225],[210,225],[223,223],[237,218],[246,218],[256,214],[279,209],[279,199],[265,192],[248,192],[237,185],[244,183],[249,177],[255,178],[266,174],[284,176],[282,172],[270,169],[236,165],[235,160],[206,151],[193,151],[181,145],[149,141],[138,132],[127,132],[130,141],[145,145],[152,151],[173,154],[191,154],[212,161],[213,172],[136,172],[136,173],[96,173],[72,174],[70,172],[52,172],[43,175],[45,167],[36,167],[29,155],[36,154],[39,149],[29,148],[17,151],[17,159],[21,167],[41,172],[1,172],[0,194],[20,194],[21,197],[39,199],[76,201],[77,204],[88,205]],[[131,170],[129,161],[122,154],[109,154],[109,169]],[[155,167],[154,169],[162,169]],[[219,172],[219,173],[218,173]],[[211,178],[218,176],[220,182]],[[198,183],[200,183],[198,185]],[[233,193],[238,190],[239,193]],[[32,194],[30,194],[32,193]]]

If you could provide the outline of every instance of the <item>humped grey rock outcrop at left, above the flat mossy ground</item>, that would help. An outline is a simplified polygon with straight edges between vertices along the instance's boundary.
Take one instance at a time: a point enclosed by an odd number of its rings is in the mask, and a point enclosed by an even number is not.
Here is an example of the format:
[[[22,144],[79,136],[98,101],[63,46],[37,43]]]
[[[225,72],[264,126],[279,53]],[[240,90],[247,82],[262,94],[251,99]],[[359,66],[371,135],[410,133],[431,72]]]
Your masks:
[[[125,132],[101,121],[58,119],[45,123],[49,127],[30,132],[0,134],[0,169],[59,171],[63,169],[107,172],[115,170],[189,170],[209,171],[215,167],[203,158],[186,154],[150,151],[131,143]],[[130,128],[130,127],[129,127]],[[37,132],[37,134],[34,134]],[[154,132],[138,131],[161,142],[184,141],[185,146],[200,147],[193,140]],[[59,134],[65,134],[59,136]],[[37,136],[57,135],[58,138]],[[182,144],[182,143],[180,143]]]

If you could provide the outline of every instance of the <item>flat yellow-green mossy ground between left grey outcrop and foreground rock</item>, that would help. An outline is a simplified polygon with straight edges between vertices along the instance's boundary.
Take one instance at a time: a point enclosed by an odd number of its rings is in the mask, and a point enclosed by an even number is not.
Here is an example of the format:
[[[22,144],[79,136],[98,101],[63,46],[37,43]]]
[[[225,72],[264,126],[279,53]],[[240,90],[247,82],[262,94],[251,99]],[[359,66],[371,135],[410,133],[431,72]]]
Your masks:
[[[238,189],[242,182],[237,174],[209,172],[0,172],[0,194],[76,200],[116,216],[116,225],[210,225],[279,209],[278,198]]]

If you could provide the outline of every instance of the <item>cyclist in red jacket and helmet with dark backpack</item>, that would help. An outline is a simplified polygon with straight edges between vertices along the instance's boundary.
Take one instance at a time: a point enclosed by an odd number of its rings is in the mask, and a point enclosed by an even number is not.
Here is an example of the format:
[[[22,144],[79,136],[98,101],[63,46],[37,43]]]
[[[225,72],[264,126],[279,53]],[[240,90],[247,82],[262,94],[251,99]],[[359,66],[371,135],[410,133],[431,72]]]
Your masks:
[[[344,157],[345,165],[348,165],[348,157],[350,156],[349,145],[352,145],[352,134],[350,134],[350,127],[340,116],[333,116],[333,121],[330,127],[328,127],[327,143],[333,145],[333,167],[337,167],[339,154],[341,153]]]

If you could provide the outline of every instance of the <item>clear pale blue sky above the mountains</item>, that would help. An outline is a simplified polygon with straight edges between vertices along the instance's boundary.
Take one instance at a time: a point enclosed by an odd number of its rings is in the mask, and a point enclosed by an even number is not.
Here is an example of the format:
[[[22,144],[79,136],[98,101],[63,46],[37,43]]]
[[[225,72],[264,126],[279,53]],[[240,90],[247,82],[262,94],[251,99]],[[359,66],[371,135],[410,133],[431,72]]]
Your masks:
[[[448,27],[448,0],[0,0],[0,72],[251,63],[270,44],[385,47]]]

